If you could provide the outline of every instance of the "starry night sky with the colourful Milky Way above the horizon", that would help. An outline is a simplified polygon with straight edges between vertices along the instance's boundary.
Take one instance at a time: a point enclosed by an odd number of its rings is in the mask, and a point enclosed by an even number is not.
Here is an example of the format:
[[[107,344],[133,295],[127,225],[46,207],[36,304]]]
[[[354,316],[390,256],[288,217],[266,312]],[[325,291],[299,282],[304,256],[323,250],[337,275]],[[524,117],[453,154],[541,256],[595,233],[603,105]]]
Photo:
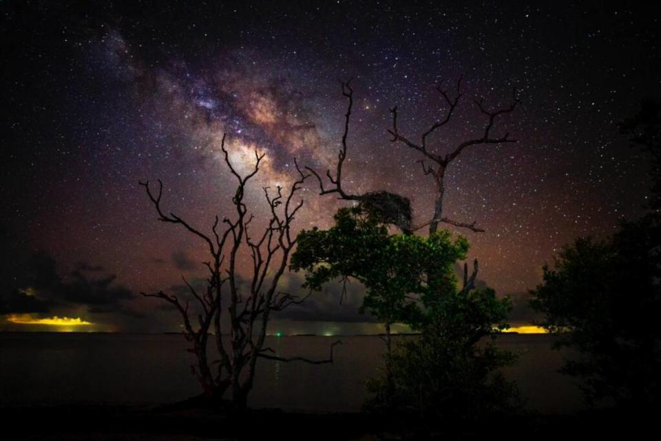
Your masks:
[[[276,4],[277,3],[277,4]],[[411,199],[429,220],[434,184],[418,139],[443,115],[436,88],[461,76],[464,101],[429,141],[447,153],[479,136],[491,108],[518,105],[494,134],[517,143],[469,148],[445,176],[445,213],[486,231],[465,234],[480,278],[532,319],[527,289],[563,244],[613,232],[642,213],[647,158],[618,133],[640,101],[661,92],[659,14],[629,3],[5,1],[0,219],[0,329],[9,318],[81,318],[103,331],[171,331],[172,311],[139,291],[181,289],[207,260],[203,244],[156,220],[138,180],[162,179],[163,205],[210,232],[228,214],[233,176],[266,154],[246,203],[267,215],[262,187],[295,176],[293,159],[334,167],[344,124],[342,81],[354,112],[344,187]],[[337,207],[313,181],[296,229],[328,227]],[[300,276],[286,274],[295,290]],[[54,288],[56,286],[56,289]],[[368,331],[361,289],[327,287],[277,316],[285,331]],[[15,321],[15,320],[14,320]],[[32,329],[32,328],[31,328]],[[36,327],[36,329],[42,329]]]

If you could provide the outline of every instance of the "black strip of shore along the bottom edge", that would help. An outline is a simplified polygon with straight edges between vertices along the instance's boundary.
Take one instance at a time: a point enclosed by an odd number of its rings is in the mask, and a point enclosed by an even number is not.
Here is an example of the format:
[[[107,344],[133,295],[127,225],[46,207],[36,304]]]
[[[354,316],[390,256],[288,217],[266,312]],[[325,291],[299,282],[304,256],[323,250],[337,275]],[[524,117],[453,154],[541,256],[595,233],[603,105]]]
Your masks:
[[[182,402],[161,406],[61,404],[0,407],[3,440],[563,440],[631,439],[649,432],[652,416],[615,411],[571,416],[510,416],[473,423],[428,422],[367,413],[250,410],[242,416]]]

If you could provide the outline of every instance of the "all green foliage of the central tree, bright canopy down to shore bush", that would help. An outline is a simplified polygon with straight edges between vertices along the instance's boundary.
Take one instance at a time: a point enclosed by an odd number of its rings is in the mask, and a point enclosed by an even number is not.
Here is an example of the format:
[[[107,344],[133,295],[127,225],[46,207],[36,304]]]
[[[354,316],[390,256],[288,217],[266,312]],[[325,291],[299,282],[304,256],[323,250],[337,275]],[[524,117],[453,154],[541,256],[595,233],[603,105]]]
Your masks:
[[[484,340],[507,327],[512,305],[493,289],[457,288],[453,268],[468,247],[448,230],[389,235],[361,207],[340,209],[326,231],[300,233],[291,268],[306,271],[306,287],[356,278],[366,287],[361,310],[421,331],[386,352],[383,375],[368,384],[369,409],[478,418],[519,404],[516,387],[499,373],[514,356]]]

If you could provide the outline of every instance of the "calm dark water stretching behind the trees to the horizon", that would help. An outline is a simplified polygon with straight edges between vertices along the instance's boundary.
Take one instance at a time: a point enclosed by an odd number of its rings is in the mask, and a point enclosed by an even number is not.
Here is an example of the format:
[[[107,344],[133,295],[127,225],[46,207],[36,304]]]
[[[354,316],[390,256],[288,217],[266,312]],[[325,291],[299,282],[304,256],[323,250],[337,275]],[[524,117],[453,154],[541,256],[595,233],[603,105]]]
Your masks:
[[[365,381],[381,362],[378,337],[342,337],[334,365],[260,360],[249,402],[254,407],[357,411]],[[282,356],[328,358],[337,337],[272,337]],[[521,353],[505,371],[529,407],[548,413],[579,409],[580,391],[556,372],[560,353],[544,335],[505,335],[499,345]],[[0,333],[0,403],[174,402],[199,392],[192,356],[178,335]]]

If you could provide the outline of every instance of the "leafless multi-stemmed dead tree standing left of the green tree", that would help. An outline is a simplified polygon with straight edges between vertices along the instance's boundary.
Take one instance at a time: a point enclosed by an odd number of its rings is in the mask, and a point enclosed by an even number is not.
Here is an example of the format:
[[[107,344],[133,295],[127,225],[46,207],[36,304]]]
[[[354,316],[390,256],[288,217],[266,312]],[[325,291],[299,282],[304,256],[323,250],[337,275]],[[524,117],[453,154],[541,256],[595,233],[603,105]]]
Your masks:
[[[225,136],[221,141],[224,161],[237,181],[232,198],[234,214],[232,219],[223,218],[222,223],[216,216],[211,234],[193,227],[176,214],[171,212],[168,214],[164,211],[161,205],[163,185],[160,180],[156,193],[149,187],[149,182],[140,182],[156,208],[158,220],[181,225],[208,247],[210,259],[204,263],[208,271],[206,289],[200,293],[184,278],[184,283],[197,304],[198,325],[193,325],[191,321],[193,311],[189,309],[188,300],[182,301],[164,291],[156,294],[141,294],[146,297],[161,298],[174,305],[179,311],[184,325],[183,334],[192,343],[189,351],[196,355],[196,365],[193,365],[192,370],[202,386],[204,395],[219,400],[227,391],[231,391],[233,407],[243,410],[246,408],[248,393],[253,387],[259,358],[284,362],[332,363],[333,347],[339,344],[339,341],[331,345],[330,358],[327,360],[278,357],[272,355],[272,349],[264,347],[271,313],[282,311],[305,299],[279,291],[278,283],[296,243],[291,228],[303,201],[295,202],[295,195],[310,175],[302,172],[294,161],[298,178],[286,192],[280,186],[275,187],[275,191],[263,187],[266,203],[269,204],[270,218],[264,230],[253,235],[251,223],[254,216],[248,214],[248,208],[244,203],[244,192],[251,178],[258,174],[264,154],[255,152],[253,170],[246,176],[241,176],[229,160],[229,152],[224,143]],[[242,248],[249,251],[252,265],[240,265],[238,260]],[[246,267],[249,273],[247,287],[240,285],[240,277],[245,278],[240,272]],[[221,318],[225,315],[229,320],[229,342],[223,339]],[[216,351],[220,357],[213,361],[209,360],[208,354],[211,326],[215,334]]]

